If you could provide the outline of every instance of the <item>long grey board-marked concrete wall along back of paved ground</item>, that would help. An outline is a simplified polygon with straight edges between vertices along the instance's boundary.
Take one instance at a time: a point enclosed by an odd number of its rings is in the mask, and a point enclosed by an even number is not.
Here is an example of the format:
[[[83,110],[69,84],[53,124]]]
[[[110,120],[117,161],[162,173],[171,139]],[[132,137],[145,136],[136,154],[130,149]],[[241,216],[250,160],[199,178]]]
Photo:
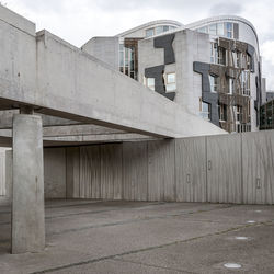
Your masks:
[[[45,190],[68,198],[274,204],[274,130],[45,149],[54,155]]]

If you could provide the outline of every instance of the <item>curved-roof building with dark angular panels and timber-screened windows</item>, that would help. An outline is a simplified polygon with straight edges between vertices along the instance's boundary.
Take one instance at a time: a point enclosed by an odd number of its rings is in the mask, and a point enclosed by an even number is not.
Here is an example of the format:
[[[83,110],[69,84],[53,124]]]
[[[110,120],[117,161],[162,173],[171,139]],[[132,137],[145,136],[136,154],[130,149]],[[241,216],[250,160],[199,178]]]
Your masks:
[[[82,50],[229,133],[259,129],[265,79],[255,28],[242,18],[153,21]]]

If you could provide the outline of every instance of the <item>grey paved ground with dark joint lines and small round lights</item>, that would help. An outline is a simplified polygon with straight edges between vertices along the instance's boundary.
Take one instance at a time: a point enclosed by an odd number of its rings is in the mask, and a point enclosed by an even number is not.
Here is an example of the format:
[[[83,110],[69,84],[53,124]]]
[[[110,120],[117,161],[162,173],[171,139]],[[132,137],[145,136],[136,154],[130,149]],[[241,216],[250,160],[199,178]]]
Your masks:
[[[21,255],[9,220],[0,206],[1,274],[274,273],[274,206],[52,201],[46,250]]]

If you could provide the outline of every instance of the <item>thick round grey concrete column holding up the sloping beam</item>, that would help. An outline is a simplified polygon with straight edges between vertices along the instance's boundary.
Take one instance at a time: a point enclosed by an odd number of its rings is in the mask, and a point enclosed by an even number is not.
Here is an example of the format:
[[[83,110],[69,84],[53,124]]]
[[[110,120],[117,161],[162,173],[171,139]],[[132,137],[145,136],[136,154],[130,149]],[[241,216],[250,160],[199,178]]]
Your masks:
[[[13,117],[12,253],[45,248],[42,119]]]

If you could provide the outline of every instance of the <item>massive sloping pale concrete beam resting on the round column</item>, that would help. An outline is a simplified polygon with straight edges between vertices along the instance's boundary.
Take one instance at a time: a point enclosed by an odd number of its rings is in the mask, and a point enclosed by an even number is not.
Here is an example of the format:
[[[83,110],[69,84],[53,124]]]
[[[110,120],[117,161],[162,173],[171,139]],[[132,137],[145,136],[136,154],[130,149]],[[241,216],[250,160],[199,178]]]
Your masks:
[[[0,7],[0,110],[35,112],[159,137],[224,133]]]

